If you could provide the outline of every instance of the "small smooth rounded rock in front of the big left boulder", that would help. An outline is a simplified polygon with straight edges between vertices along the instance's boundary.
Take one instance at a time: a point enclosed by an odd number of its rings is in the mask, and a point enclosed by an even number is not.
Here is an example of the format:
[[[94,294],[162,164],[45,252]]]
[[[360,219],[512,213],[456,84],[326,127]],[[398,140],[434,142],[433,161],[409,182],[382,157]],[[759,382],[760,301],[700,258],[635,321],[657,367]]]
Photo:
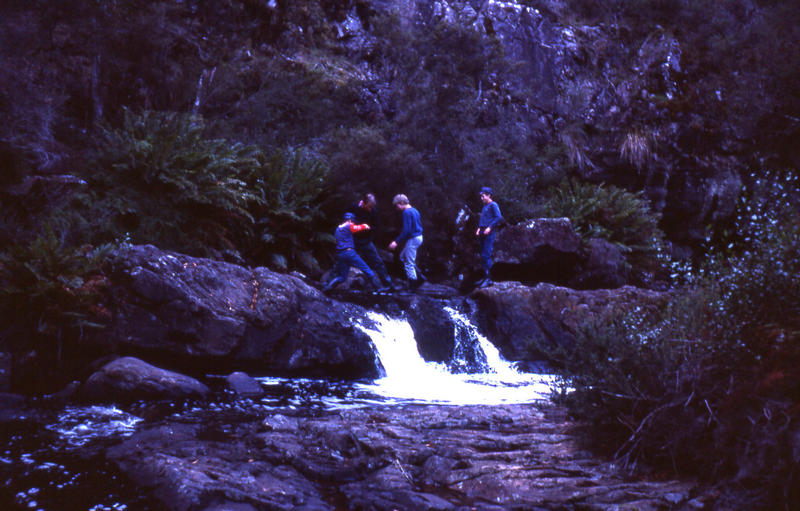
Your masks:
[[[203,397],[209,389],[189,376],[123,357],[92,374],[81,393],[92,401],[136,401]]]

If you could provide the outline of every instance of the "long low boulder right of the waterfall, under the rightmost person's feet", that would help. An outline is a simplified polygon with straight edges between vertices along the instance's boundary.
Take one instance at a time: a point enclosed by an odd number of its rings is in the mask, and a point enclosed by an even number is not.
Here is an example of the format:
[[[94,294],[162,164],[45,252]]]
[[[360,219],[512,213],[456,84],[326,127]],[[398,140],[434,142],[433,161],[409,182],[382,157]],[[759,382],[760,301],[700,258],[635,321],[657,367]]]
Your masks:
[[[479,328],[509,360],[541,360],[558,346],[569,347],[587,321],[635,307],[657,307],[669,295],[624,286],[578,291],[541,283],[529,287],[500,282],[472,293]]]

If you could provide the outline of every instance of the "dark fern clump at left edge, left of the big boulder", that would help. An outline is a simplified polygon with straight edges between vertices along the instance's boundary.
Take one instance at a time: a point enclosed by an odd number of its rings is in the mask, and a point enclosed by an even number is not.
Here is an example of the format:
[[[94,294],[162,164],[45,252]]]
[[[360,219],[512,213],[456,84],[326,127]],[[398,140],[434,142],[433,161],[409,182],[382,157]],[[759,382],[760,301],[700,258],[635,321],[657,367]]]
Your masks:
[[[0,252],[0,317],[14,334],[10,338],[24,343],[13,351],[41,351],[60,363],[63,342],[102,327],[100,265],[106,253],[107,247],[67,246],[51,229]]]

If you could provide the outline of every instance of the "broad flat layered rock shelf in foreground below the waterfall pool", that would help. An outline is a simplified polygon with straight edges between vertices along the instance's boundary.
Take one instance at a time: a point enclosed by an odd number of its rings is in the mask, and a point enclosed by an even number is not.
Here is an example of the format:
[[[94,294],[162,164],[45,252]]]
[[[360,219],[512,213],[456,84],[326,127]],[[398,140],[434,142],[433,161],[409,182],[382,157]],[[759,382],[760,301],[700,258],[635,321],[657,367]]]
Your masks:
[[[254,416],[224,432],[208,419],[139,428],[107,457],[164,509],[181,511],[224,502],[241,509],[655,510],[679,509],[697,495],[691,482],[632,481],[588,457],[564,412],[552,407]]]

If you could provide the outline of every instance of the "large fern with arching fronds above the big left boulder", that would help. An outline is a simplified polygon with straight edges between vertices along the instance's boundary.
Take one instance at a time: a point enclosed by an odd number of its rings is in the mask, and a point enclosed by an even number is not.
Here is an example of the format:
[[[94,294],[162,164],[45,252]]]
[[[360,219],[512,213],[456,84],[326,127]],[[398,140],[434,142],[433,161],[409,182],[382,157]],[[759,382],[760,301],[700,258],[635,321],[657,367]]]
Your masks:
[[[102,222],[96,235],[196,255],[234,250],[259,200],[245,181],[257,150],[203,138],[203,129],[197,116],[127,110],[121,128],[104,128],[83,204]]]

